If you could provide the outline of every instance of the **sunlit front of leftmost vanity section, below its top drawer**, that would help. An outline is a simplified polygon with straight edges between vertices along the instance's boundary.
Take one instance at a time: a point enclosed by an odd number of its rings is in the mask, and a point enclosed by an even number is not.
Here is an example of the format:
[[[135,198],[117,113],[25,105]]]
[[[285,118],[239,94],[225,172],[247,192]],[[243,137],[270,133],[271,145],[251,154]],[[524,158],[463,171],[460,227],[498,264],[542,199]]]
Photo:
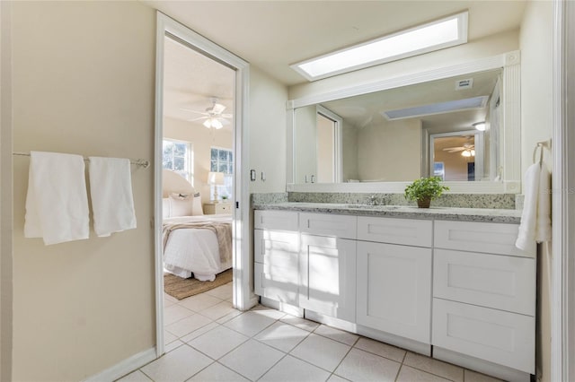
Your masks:
[[[253,236],[255,293],[297,306],[298,233],[254,230]]]

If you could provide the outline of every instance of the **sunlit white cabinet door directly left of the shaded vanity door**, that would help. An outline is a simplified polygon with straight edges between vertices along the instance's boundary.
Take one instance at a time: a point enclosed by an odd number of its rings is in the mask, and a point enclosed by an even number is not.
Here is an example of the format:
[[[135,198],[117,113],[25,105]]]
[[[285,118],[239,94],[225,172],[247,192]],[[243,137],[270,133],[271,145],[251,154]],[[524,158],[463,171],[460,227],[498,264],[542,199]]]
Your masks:
[[[355,322],[356,241],[301,235],[299,306]]]

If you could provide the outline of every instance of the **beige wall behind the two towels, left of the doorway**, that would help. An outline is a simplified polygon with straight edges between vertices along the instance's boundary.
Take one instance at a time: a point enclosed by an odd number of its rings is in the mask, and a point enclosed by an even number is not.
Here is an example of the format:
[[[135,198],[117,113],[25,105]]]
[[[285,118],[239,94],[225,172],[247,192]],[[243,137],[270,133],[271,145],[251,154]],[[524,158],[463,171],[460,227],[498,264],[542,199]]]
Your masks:
[[[153,9],[13,2],[12,22],[14,151],[153,160]],[[13,162],[13,380],[84,380],[153,348],[153,167],[132,168],[136,230],[46,247],[23,238],[30,159]]]

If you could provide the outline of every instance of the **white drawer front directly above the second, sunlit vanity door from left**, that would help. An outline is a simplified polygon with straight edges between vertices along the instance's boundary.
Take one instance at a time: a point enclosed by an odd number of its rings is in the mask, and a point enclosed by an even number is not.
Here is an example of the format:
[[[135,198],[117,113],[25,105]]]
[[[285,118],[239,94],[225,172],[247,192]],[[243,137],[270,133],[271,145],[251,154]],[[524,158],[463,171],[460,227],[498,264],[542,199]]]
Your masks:
[[[356,239],[357,216],[329,213],[300,213],[299,230],[312,235]]]

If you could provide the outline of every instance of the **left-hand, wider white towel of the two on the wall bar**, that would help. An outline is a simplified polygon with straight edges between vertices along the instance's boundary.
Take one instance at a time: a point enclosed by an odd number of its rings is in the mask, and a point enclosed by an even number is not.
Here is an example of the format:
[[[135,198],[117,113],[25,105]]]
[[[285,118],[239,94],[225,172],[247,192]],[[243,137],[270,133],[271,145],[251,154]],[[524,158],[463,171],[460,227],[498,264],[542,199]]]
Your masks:
[[[84,158],[57,152],[30,156],[24,237],[42,238],[46,245],[88,239]]]

